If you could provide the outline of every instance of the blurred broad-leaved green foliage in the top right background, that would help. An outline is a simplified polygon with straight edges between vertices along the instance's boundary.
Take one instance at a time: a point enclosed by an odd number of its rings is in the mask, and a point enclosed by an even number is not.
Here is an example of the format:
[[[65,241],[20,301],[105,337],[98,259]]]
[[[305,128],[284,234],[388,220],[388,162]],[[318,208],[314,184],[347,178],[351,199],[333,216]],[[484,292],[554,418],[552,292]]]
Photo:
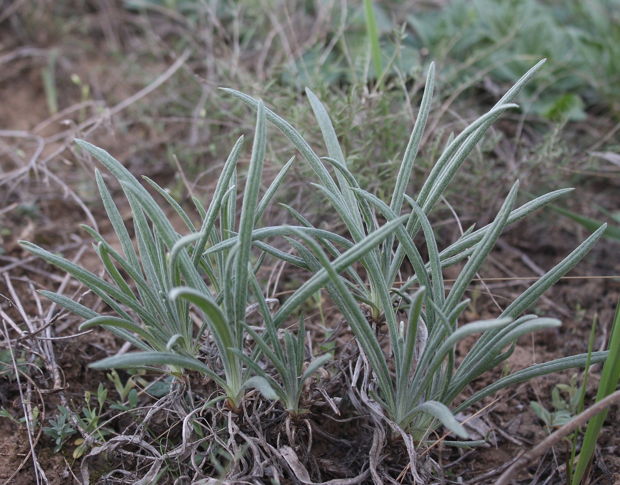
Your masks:
[[[456,0],[407,20],[414,45],[445,61],[443,81],[453,85],[514,82],[546,57],[546,74],[526,87],[521,104],[560,121],[585,119],[586,105],[597,102],[618,113],[619,17],[609,0]]]

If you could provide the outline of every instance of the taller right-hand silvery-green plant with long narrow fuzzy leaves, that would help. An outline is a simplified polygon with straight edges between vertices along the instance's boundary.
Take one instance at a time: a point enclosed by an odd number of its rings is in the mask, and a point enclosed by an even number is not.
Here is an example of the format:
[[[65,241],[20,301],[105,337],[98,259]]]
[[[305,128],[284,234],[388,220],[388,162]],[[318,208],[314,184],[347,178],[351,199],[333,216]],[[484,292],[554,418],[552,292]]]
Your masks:
[[[541,61],[530,69],[493,109],[469,125],[456,138],[451,137],[445,151],[423,184],[417,199],[414,200],[405,194],[405,191],[430,112],[435,75],[435,68],[431,65],[420,112],[404,154],[396,185],[392,190],[389,205],[361,189],[355,176],[347,168],[347,162],[340,149],[327,110],[309,89],[306,90],[306,94],[319,122],[329,157],[319,158],[289,123],[272,111],[265,110],[267,120],[282,131],[308,161],[321,181],[321,184],[315,184],[317,189],[329,199],[353,239],[353,242],[350,242],[337,234],[319,231],[298,211],[285,206],[303,226],[298,228],[296,235],[306,242],[306,246],[309,246],[311,250],[289,239],[299,256],[283,253],[278,256],[312,272],[329,274],[330,280],[325,288],[347,319],[373,370],[374,382],[371,383],[369,389],[371,396],[381,404],[387,417],[402,429],[409,431],[416,441],[427,437],[428,432],[437,427],[440,422],[464,437],[464,429],[454,419],[453,414],[508,385],[546,373],[579,367],[585,363],[586,356],[579,355],[539,364],[498,380],[466,399],[456,409],[450,410],[448,407],[472,380],[510,357],[515,348],[515,342],[520,336],[560,324],[556,319],[521,316],[521,313],[577,264],[604,231],[604,227],[598,229],[559,265],[516,298],[497,319],[458,327],[458,318],[467,306],[467,300],[461,299],[503,229],[572,190],[556,190],[515,209],[513,207],[518,190],[517,182],[513,185],[492,223],[477,231],[473,228],[469,229],[458,241],[441,252],[438,251],[433,228],[427,217],[454,174],[490,125],[503,111],[516,107],[511,102],[543,62]],[[259,108],[259,102],[246,94],[231,89],[225,91],[241,99],[252,109]],[[335,168],[335,180],[327,171],[324,162]],[[405,216],[407,222],[399,225],[396,231],[386,238],[381,239],[380,246],[374,247],[361,257],[360,262],[365,269],[363,273],[358,274],[352,268],[348,268],[348,278],[343,277],[340,274],[342,267],[334,267],[334,264],[330,262],[330,257],[336,260],[341,258],[340,250],[334,242],[344,249],[354,247],[355,244],[359,244],[376,233],[375,213],[380,213],[383,218],[393,223],[405,210],[405,202],[411,208],[409,214]],[[425,236],[429,254],[429,260],[426,263],[413,243],[420,228]],[[263,228],[254,231],[252,238],[256,244],[265,244],[262,239],[285,234],[291,234],[290,229],[286,228],[284,231],[283,228]],[[322,247],[309,236],[316,238]],[[394,249],[395,242],[396,248]],[[236,244],[236,239],[231,238],[211,247],[208,252],[217,254],[234,244]],[[329,256],[325,254],[325,251]],[[276,254],[275,251],[271,252]],[[405,256],[414,269],[414,275],[401,287],[395,287]],[[446,296],[442,269],[464,259],[467,259],[467,262]],[[368,285],[365,284],[365,278],[368,278]],[[408,292],[414,285],[419,285],[420,288],[413,295],[409,295]],[[397,321],[394,311],[393,305],[399,299],[405,300],[409,308],[406,326],[404,322]],[[362,312],[360,304],[370,308],[370,316]],[[273,324],[277,328],[282,321],[276,314]],[[391,373],[391,366],[386,362],[378,338],[371,329],[371,323],[387,325],[394,376]],[[482,334],[482,336],[461,365],[454,368],[456,344],[471,334]],[[597,362],[601,362],[605,357],[604,353],[593,354],[593,359]]]

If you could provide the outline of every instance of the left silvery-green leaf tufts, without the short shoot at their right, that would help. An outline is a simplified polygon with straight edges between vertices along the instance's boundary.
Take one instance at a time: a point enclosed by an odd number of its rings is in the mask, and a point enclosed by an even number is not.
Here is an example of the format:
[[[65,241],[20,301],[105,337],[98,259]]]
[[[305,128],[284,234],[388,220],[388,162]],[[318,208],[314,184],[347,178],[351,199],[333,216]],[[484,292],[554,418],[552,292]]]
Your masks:
[[[278,177],[275,186],[268,190],[266,200],[258,203],[265,147],[265,122],[262,113],[259,112],[242,207],[239,229],[242,244],[234,250],[218,254],[213,261],[203,256],[203,249],[208,244],[216,244],[236,234],[236,164],[242,139],[237,141],[224,165],[210,207],[205,209],[197,200],[194,201],[203,217],[200,231],[164,189],[146,179],[185,222],[191,231],[191,234],[185,237],[181,237],[172,228],[153,197],[125,167],[102,149],[80,140],[78,144],[98,158],[120,181],[133,211],[138,252],[135,251],[118,208],[97,171],[99,191],[124,256],[115,251],[97,231],[87,226],[84,226],[84,229],[97,241],[95,251],[112,283],[34,244],[22,242],[22,246],[78,278],[108,303],[118,316],[100,315],[66,296],[49,291],[42,293],[50,300],[86,318],[87,321],[82,324],[81,329],[102,325],[144,351],[104,359],[93,367],[153,368],[160,365],[166,366],[167,372],[176,376],[181,376],[183,369],[197,370],[215,380],[224,389],[231,406],[236,407],[244,389],[249,385],[249,375],[242,369],[241,360],[229,349],[242,348],[242,322],[247,305],[247,265],[250,259],[249,236],[255,226],[255,218],[260,216],[268,198],[281,182],[281,177]],[[288,167],[290,164],[285,166],[283,173],[286,173]],[[215,227],[218,216],[219,232]],[[135,289],[128,285],[119,268],[133,280]],[[201,271],[208,276],[212,288],[206,285]],[[236,282],[234,290],[231,285],[224,284],[226,281],[233,281],[233,274]],[[193,332],[189,302],[197,303],[205,314],[205,323],[197,334]],[[224,311],[220,305],[224,306]],[[218,345],[224,378],[196,358],[200,338],[207,327]]]

